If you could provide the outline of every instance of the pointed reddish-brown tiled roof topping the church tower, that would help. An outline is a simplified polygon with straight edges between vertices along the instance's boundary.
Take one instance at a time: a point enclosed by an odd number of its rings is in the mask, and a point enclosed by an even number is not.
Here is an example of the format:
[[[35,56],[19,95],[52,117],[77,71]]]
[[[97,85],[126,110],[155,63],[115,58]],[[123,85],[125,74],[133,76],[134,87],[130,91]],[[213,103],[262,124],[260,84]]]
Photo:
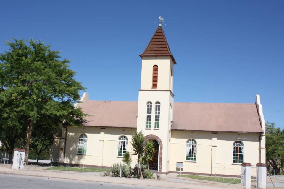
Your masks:
[[[168,42],[167,42],[162,26],[159,26],[157,28],[148,46],[146,47],[144,52],[139,56],[141,58],[143,56],[170,56],[174,64],[177,64],[175,62],[174,56],[171,53],[171,50],[168,45]]]

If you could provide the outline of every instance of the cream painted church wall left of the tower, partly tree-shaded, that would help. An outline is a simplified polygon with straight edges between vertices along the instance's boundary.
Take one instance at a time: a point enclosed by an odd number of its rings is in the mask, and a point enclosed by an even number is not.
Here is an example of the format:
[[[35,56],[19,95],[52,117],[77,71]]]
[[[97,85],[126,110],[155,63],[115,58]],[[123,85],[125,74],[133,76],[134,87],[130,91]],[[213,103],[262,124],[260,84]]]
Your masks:
[[[65,162],[110,167],[113,163],[122,161],[117,157],[118,138],[125,135],[128,138],[128,151],[131,153],[131,137],[135,129],[88,127],[75,128],[68,126]],[[85,133],[88,137],[86,155],[77,154],[79,136]],[[133,156],[132,167],[137,156]]]

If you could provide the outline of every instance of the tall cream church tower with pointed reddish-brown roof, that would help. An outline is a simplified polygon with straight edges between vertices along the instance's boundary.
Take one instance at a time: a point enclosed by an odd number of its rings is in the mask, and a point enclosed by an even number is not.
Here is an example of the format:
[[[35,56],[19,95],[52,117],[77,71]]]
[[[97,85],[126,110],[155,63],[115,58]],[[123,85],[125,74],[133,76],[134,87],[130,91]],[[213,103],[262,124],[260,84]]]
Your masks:
[[[158,170],[169,170],[172,111],[174,103],[173,74],[175,59],[170,51],[162,25],[159,24],[142,58],[141,88],[138,97],[137,131],[159,144]]]

